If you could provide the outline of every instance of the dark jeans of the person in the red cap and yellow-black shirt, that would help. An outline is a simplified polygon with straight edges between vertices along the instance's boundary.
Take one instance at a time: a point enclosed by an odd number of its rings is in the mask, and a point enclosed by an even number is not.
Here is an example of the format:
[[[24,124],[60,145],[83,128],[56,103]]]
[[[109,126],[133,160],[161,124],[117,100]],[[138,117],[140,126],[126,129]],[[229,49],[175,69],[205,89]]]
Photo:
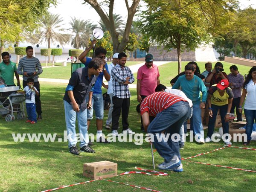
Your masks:
[[[225,122],[225,116],[227,114],[227,105],[213,105],[212,104],[212,117],[209,117],[209,123],[208,123],[208,131],[207,131],[207,137],[212,137],[212,134],[214,132],[214,126],[216,121],[216,116],[218,114],[218,110],[220,109],[220,115],[221,115],[221,123],[223,128],[223,134],[228,134],[228,122]],[[227,137],[226,137],[227,138]]]

